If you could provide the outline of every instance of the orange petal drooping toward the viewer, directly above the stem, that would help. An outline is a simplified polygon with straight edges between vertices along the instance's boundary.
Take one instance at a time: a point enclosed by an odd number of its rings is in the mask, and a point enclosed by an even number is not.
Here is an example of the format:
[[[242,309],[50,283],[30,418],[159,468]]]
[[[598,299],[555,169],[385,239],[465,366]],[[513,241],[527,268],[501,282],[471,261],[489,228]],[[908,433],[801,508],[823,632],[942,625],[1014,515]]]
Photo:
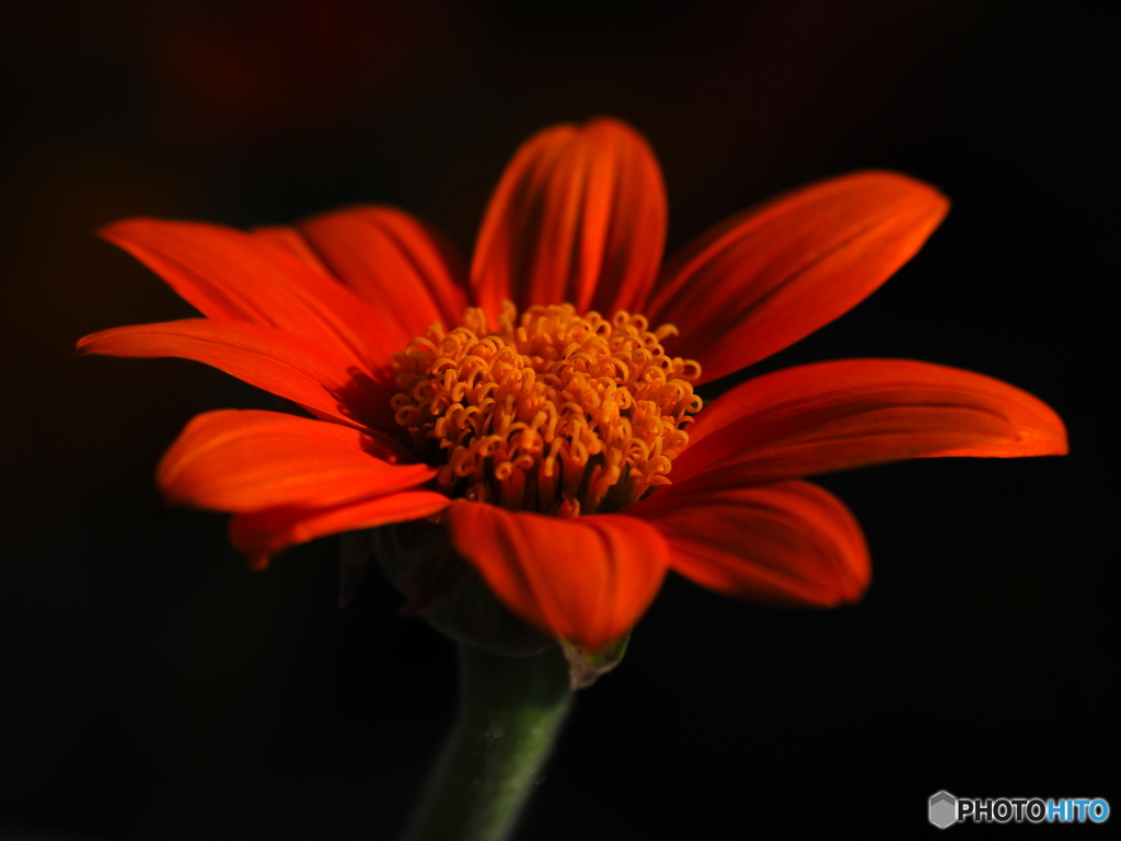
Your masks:
[[[634,626],[666,574],[665,539],[630,517],[557,519],[460,502],[446,518],[456,549],[510,610],[592,650]]]

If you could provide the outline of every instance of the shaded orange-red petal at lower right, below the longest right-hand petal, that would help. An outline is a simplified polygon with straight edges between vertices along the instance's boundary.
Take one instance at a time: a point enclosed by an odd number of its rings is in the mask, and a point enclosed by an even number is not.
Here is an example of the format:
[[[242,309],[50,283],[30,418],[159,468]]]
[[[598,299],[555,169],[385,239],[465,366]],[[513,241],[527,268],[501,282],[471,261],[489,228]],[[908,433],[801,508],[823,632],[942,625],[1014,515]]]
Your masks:
[[[841,500],[809,482],[738,488],[720,472],[626,509],[666,537],[671,570],[766,603],[832,607],[864,593],[872,575],[868,545]],[[716,487],[706,484],[708,477]]]

